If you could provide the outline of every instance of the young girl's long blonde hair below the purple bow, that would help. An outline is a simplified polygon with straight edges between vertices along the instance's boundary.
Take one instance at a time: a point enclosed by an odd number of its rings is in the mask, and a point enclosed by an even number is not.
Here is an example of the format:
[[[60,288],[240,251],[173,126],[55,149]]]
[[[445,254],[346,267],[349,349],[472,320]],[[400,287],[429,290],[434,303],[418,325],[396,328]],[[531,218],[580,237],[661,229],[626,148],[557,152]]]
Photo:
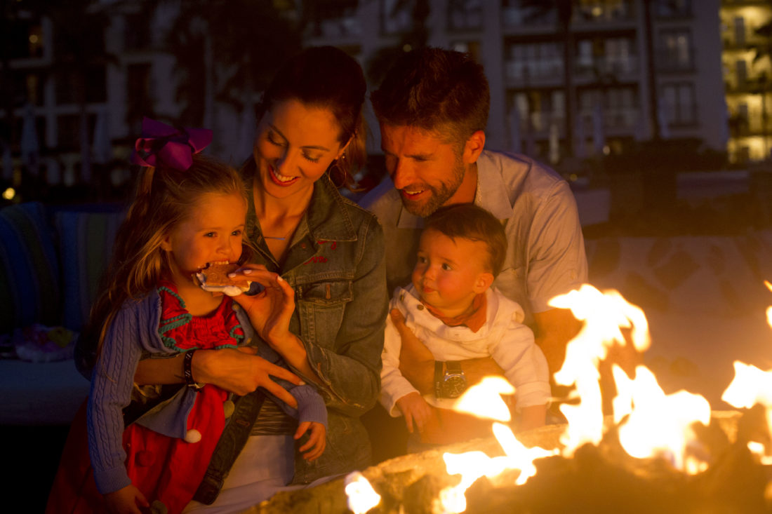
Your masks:
[[[168,272],[161,242],[174,225],[188,217],[201,195],[208,193],[239,194],[246,200],[239,173],[211,157],[193,155],[193,164],[185,171],[164,165],[142,168],[134,201],[118,228],[110,264],[83,331],[83,350],[90,353],[84,357],[93,359],[89,367],[96,363],[107,327],[124,302],[141,299]],[[247,256],[242,252],[242,260]]]

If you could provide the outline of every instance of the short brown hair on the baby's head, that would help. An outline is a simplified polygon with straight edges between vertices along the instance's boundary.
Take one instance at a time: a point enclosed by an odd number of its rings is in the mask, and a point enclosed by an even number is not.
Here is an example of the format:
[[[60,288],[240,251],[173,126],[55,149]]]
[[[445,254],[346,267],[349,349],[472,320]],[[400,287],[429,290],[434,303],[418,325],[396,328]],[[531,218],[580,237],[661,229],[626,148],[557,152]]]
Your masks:
[[[501,221],[489,211],[474,204],[453,204],[438,208],[425,219],[424,230],[436,230],[451,239],[482,241],[488,246],[486,262],[496,277],[506,257],[506,235]]]

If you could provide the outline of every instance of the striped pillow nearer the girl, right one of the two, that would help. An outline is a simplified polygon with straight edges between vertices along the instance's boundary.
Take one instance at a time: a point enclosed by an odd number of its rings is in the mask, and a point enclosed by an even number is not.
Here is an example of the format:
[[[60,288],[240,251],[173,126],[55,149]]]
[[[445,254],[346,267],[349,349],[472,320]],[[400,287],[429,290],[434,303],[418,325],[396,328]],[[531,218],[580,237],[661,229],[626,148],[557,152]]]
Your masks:
[[[59,211],[54,215],[62,255],[64,324],[70,330],[81,330],[89,319],[123,218],[120,212]]]

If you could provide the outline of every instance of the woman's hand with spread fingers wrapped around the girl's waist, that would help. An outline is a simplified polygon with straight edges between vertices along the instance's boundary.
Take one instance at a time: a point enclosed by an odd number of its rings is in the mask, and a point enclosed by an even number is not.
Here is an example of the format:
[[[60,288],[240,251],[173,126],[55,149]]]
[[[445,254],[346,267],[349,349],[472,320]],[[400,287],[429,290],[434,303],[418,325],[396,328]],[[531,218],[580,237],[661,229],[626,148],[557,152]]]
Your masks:
[[[303,380],[256,353],[257,349],[252,347],[198,350],[192,362],[193,377],[198,382],[215,384],[239,396],[263,387],[290,407],[297,408],[293,395],[276,384],[269,375],[283,378],[295,385],[303,384]]]

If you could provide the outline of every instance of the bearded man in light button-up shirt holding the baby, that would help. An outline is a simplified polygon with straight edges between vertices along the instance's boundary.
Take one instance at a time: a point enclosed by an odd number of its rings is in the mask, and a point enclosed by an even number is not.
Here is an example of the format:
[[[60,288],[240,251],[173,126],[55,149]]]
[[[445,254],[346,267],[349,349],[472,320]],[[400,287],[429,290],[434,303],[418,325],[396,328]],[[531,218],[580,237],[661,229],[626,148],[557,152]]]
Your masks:
[[[494,285],[523,306],[550,374],[559,370],[578,323],[571,311],[547,302],[587,282],[584,238],[567,182],[529,157],[484,150],[488,81],[467,54],[436,48],[405,53],[371,102],[391,181],[381,182],[361,205],[384,228],[389,290],[410,281],[422,218],[442,205],[474,202],[501,220],[509,243]],[[448,370],[435,380],[431,353],[404,323],[395,324],[409,357],[401,361],[417,363],[401,367],[402,373],[422,393],[435,391]],[[462,361],[462,371],[468,384],[501,374],[489,359]]]

